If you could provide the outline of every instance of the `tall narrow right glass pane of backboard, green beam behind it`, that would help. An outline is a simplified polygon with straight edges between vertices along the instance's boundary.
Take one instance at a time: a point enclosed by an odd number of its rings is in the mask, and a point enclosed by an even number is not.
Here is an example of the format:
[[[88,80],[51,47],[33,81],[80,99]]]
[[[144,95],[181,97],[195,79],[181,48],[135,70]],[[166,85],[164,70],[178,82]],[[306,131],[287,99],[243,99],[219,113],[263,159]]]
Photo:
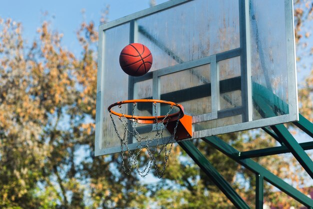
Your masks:
[[[284,0],[250,1],[249,24],[253,120],[288,114]]]

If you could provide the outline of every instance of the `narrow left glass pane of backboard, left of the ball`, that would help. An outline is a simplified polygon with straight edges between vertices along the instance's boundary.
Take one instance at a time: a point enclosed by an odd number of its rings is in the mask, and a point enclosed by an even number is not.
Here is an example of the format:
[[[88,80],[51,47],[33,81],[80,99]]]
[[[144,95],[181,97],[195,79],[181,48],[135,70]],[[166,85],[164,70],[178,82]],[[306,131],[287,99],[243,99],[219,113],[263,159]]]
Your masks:
[[[128,32],[128,33],[127,33]],[[100,148],[109,148],[119,146],[119,139],[116,137],[112,121],[107,111],[107,107],[115,102],[128,98],[128,75],[125,74],[119,66],[120,51],[129,44],[129,24],[117,26],[105,31],[105,51],[104,51],[104,85],[102,97],[104,103],[103,126],[102,126],[102,142]],[[109,78],[109,79],[108,79]],[[104,96],[105,95],[105,96]],[[123,110],[127,112],[127,105],[123,105]],[[123,126],[117,122],[115,124],[118,129]]]

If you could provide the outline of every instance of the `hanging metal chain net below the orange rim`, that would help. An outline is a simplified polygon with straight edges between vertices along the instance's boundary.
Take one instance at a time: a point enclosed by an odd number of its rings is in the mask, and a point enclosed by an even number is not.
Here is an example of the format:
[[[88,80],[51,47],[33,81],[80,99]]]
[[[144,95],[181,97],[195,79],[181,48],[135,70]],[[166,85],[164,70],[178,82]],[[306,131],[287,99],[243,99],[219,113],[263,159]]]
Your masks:
[[[154,115],[157,115],[156,111],[156,103],[153,102],[153,111]],[[118,117],[118,120],[121,122],[123,126],[123,133],[119,134],[114,119],[112,117],[112,113],[110,113],[110,118],[112,120],[115,132],[117,137],[120,140],[120,149],[121,149],[121,167],[123,171],[128,175],[133,168],[136,169],[137,173],[144,177],[146,176],[152,165],[154,165],[155,174],[158,178],[161,178],[164,174],[164,170],[167,164],[167,160],[170,154],[170,151],[173,146],[173,141],[176,134],[176,128],[179,122],[179,119],[175,121],[175,126],[172,134],[169,137],[164,137],[164,130],[170,121],[169,114],[173,109],[173,105],[170,105],[168,112],[166,113],[165,117],[158,122],[157,118],[155,117],[155,123],[152,125],[152,129],[149,133],[145,134],[144,137],[140,136],[138,131],[136,130],[136,119],[133,118],[133,113],[135,110],[136,103],[132,103],[132,118],[128,120],[124,117],[124,113],[122,110],[122,106],[119,104],[118,109],[122,116]],[[180,118],[180,114],[178,115]],[[128,141],[132,137],[132,140],[136,140],[137,145],[135,149],[130,149],[128,147]],[[167,146],[169,144],[169,146]],[[143,159],[140,156],[142,149],[145,149],[147,160],[145,164],[139,164],[139,160]],[[127,154],[126,154],[127,152]],[[164,153],[164,159],[160,160],[162,165],[158,166],[159,158]],[[140,160],[140,161],[141,161]]]

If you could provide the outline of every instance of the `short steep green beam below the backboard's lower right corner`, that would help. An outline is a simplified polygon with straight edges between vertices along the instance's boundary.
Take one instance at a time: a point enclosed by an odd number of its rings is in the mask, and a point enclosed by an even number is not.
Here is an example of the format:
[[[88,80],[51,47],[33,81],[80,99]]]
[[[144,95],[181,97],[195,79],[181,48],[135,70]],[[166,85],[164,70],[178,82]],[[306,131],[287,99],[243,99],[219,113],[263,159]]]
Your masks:
[[[279,136],[280,140],[290,150],[297,161],[301,164],[304,170],[306,170],[309,176],[313,178],[313,161],[305,153],[299,143],[293,138],[288,129],[282,124],[272,126],[271,128],[277,134],[277,136]]]

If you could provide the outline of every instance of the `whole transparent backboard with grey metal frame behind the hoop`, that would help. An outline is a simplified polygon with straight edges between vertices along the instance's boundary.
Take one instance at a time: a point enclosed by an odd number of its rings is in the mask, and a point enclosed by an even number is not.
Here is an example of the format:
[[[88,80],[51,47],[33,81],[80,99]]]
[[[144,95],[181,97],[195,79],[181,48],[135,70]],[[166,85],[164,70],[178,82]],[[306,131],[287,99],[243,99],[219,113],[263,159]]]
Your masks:
[[[150,49],[147,74],[120,69],[129,43]],[[298,120],[296,87],[292,0],[168,1],[99,27],[95,155],[120,152],[112,103],[179,103],[200,138]]]

